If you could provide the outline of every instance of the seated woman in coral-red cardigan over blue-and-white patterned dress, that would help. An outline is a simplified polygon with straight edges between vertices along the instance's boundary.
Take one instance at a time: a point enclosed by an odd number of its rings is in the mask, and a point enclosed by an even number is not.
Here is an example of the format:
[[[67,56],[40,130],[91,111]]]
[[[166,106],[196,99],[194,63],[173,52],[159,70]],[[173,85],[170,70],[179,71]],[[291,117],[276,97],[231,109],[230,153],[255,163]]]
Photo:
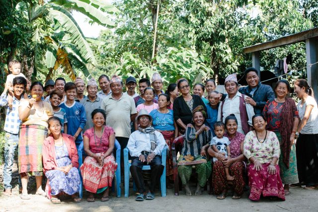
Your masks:
[[[61,121],[57,117],[48,120],[51,135],[44,140],[43,170],[51,187],[51,202],[61,203],[58,195],[64,192],[72,195],[73,201],[79,203],[79,156],[72,136],[61,133]]]

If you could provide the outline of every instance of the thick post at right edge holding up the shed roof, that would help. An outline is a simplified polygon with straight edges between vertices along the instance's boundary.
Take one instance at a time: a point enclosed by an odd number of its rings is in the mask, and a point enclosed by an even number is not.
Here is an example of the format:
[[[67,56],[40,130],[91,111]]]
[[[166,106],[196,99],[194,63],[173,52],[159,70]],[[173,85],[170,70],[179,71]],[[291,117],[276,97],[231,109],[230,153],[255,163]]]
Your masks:
[[[318,101],[318,38],[306,39],[307,81]],[[314,64],[314,65],[311,65]]]

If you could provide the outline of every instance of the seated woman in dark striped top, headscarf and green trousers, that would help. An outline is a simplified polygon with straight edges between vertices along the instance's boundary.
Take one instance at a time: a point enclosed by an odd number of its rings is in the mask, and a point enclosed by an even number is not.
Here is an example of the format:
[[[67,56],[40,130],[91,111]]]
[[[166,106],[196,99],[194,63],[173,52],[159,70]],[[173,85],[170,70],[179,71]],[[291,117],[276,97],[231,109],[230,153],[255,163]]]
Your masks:
[[[194,195],[201,195],[212,170],[211,162],[207,161],[206,158],[206,149],[210,145],[212,132],[209,127],[204,125],[206,118],[205,108],[199,105],[193,110],[192,114],[194,125],[187,125],[183,148],[178,159],[178,174],[187,196],[192,195],[189,187],[192,166],[195,166],[198,174],[198,184]]]

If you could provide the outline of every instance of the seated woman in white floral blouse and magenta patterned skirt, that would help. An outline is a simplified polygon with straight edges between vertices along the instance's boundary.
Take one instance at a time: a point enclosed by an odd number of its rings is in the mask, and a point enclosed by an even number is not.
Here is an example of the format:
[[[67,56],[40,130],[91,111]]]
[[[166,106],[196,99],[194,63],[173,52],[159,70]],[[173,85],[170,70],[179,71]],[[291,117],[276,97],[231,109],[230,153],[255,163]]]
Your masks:
[[[249,199],[258,201],[260,196],[278,197],[285,200],[285,192],[279,174],[280,146],[274,132],[266,130],[267,122],[262,115],[254,115],[255,130],[246,134],[244,156],[248,159],[247,175],[250,187]]]

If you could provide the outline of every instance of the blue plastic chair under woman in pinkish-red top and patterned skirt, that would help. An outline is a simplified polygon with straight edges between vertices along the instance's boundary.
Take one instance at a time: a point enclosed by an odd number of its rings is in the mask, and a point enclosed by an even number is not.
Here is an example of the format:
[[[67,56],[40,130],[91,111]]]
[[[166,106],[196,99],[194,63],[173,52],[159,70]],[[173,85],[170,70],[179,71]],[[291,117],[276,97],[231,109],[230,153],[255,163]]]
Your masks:
[[[84,144],[81,142],[78,147],[78,154],[79,154],[79,167],[83,164],[83,158],[82,158],[82,152],[84,149]],[[115,149],[116,149],[116,162],[117,162],[117,169],[115,172],[115,177],[116,177],[116,186],[117,186],[117,197],[121,196],[121,188],[120,188],[120,182],[121,182],[121,177],[120,177],[120,144],[117,140],[115,140]],[[83,179],[80,174],[80,169],[79,169],[79,176],[80,176],[80,186],[79,186],[79,198],[83,198]],[[115,184],[115,179],[113,179],[113,185]],[[115,188],[114,186],[112,187],[112,191],[114,192]]]

